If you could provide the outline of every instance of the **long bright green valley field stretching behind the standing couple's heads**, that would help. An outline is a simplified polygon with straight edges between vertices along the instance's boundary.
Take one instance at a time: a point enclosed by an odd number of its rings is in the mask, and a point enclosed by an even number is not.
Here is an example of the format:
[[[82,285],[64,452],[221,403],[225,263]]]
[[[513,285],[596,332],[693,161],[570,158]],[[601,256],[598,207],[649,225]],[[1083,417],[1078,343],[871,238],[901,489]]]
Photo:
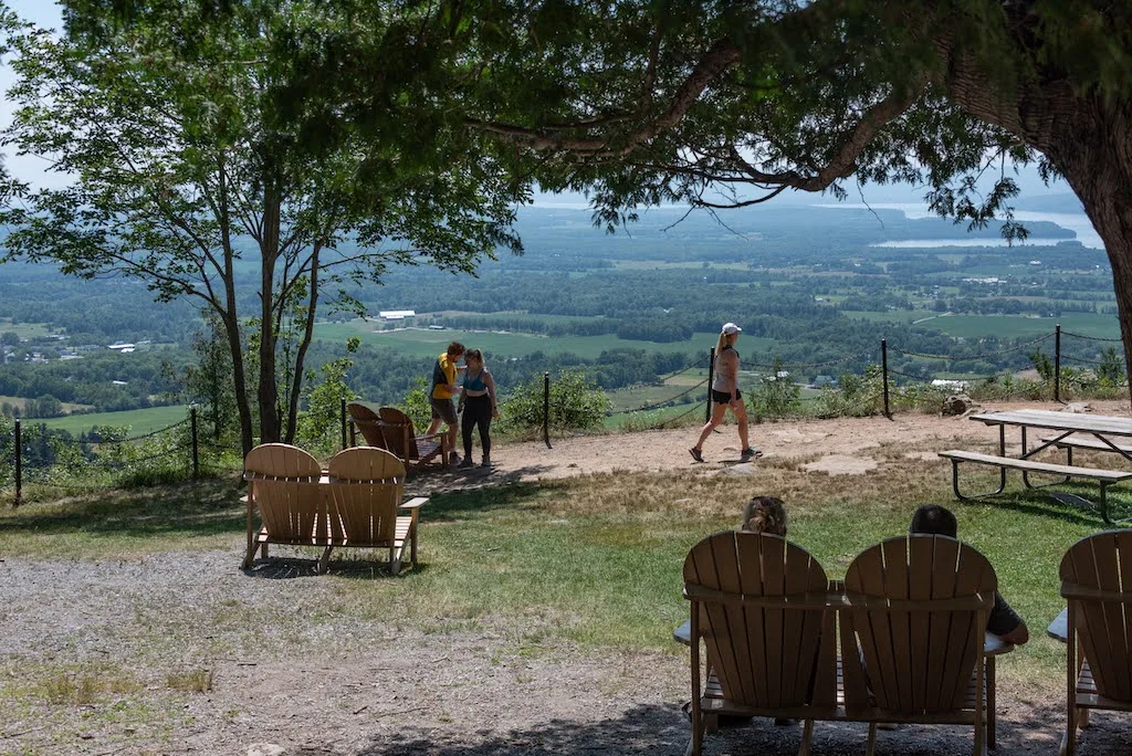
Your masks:
[[[614,349],[641,349],[649,352],[703,352],[715,345],[717,334],[696,334],[683,342],[643,342],[617,338],[616,336],[541,336],[522,333],[471,332],[445,328],[405,328],[402,330],[374,332],[372,323],[351,320],[350,323],[323,324],[316,327],[315,338],[344,342],[350,336],[359,336],[363,344],[385,346],[401,354],[432,356],[444,351],[448,342],[458,341],[469,349],[487,352],[495,356],[523,356],[534,352],[560,354],[569,352],[584,359],[597,359],[602,352]],[[744,337],[743,346],[751,351],[769,350],[774,341],[770,338]]]

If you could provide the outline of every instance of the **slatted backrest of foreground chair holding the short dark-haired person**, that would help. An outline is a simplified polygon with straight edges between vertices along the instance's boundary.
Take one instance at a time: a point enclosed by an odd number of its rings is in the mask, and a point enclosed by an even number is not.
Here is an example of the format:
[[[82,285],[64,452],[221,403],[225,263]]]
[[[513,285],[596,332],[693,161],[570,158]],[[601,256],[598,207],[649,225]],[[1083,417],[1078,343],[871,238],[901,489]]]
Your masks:
[[[986,557],[944,535],[889,539],[854,559],[854,609],[841,615],[847,708],[869,706],[866,687],[887,712],[963,708],[997,584]]]

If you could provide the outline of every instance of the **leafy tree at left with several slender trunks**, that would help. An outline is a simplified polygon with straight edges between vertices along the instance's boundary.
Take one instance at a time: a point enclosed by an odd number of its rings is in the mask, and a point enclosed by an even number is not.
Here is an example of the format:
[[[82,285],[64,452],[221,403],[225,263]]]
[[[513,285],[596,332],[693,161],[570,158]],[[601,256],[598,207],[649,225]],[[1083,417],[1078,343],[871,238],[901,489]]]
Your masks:
[[[63,5],[63,35],[6,17],[18,78],[3,141],[71,183],[8,182],[3,256],[214,311],[245,450],[293,438],[328,292],[378,284],[391,265],[469,273],[520,250],[525,190],[449,115],[461,71],[439,7]],[[341,55],[359,42],[404,67],[358,92]],[[295,341],[280,349],[284,329]]]

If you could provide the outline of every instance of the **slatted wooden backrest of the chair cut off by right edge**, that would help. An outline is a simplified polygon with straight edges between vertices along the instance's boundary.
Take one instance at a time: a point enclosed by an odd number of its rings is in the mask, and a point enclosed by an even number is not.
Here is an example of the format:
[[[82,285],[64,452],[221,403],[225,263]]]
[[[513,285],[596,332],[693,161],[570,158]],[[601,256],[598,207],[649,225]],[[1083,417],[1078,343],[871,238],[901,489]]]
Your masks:
[[[1061,578],[1097,693],[1132,702],[1132,531],[1081,539],[1065,552]]]

